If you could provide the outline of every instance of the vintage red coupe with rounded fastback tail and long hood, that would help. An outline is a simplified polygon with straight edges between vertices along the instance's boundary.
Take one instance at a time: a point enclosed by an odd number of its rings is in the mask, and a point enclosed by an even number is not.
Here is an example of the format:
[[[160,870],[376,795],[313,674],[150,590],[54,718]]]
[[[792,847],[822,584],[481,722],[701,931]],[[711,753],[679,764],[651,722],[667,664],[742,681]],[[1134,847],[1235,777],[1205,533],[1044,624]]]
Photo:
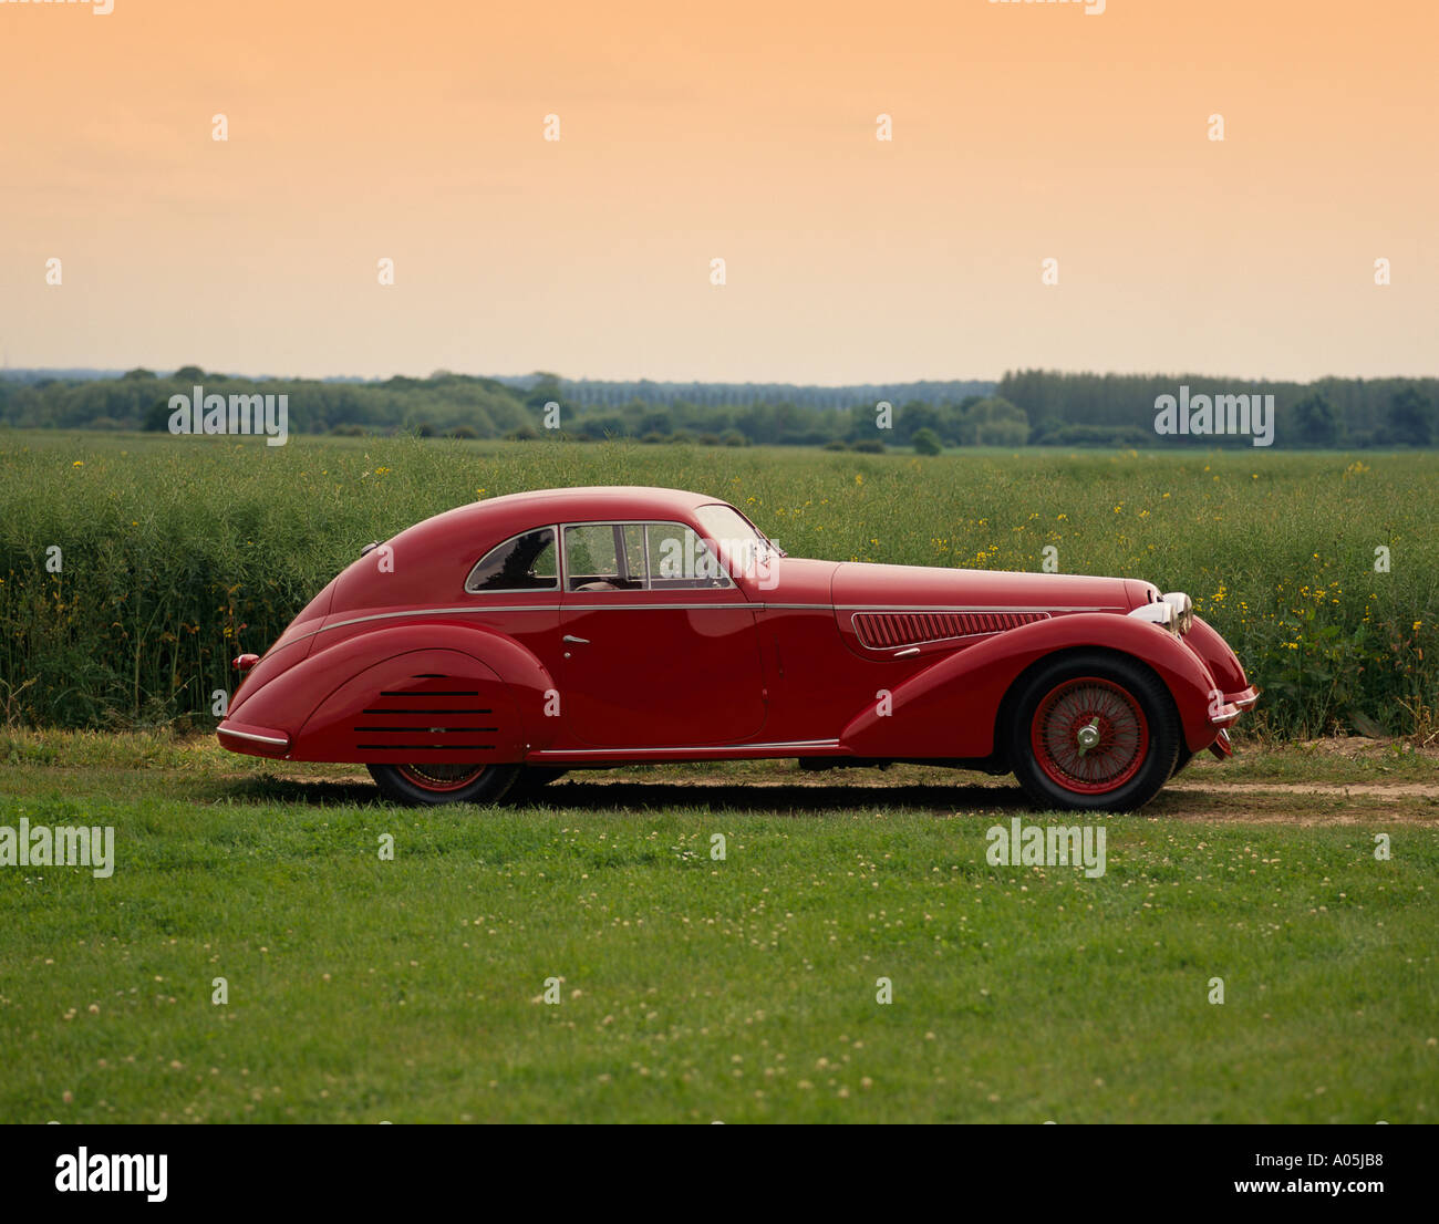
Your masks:
[[[701,493],[515,493],[368,545],[245,679],[220,742],[494,803],[568,769],[917,761],[1131,810],[1229,755],[1256,690],[1132,578],[804,561]]]

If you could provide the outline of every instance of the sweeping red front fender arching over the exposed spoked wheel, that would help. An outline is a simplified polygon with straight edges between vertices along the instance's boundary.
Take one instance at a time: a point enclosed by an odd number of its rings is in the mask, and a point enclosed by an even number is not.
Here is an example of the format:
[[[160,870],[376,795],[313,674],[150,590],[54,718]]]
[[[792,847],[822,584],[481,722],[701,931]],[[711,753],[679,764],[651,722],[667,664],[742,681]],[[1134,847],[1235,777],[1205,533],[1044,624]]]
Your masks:
[[[990,757],[994,719],[1014,680],[1046,656],[1082,649],[1114,650],[1153,667],[1174,698],[1189,749],[1197,752],[1215,741],[1219,731],[1209,721],[1215,679],[1181,639],[1127,616],[1075,613],[947,654],[895,688],[888,702],[856,715],[840,746],[856,757]]]

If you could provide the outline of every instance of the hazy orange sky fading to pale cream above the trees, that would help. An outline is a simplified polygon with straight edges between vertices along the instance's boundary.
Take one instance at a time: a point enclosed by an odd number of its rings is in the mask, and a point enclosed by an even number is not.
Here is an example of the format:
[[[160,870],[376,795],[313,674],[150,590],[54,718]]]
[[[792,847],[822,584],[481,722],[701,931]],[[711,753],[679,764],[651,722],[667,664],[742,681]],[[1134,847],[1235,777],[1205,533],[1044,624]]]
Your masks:
[[[1436,43],[1429,0],[0,0],[0,348],[1435,374]]]

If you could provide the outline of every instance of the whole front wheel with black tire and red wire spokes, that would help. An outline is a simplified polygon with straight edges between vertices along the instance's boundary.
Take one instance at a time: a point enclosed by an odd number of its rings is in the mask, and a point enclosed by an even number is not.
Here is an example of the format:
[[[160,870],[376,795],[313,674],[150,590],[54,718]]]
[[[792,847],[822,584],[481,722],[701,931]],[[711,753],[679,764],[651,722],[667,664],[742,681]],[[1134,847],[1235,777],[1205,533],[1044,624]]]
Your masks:
[[[1134,811],[1174,772],[1179,712],[1163,680],[1137,660],[1082,652],[1040,664],[1022,680],[1013,709],[1009,759],[1039,808]]]

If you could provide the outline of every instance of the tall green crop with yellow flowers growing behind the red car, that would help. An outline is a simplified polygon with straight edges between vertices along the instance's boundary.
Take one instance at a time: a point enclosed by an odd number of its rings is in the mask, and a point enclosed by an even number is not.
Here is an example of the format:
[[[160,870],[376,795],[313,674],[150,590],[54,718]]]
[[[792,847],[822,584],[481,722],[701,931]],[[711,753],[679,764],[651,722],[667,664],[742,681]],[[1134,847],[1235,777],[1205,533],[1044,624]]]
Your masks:
[[[1246,729],[1429,735],[1435,476],[1427,453],[921,459],[3,433],[0,721],[207,729],[236,643],[263,650],[367,541],[476,498],[646,483],[732,501],[802,557],[991,570],[1049,557],[1187,590],[1265,690]]]

